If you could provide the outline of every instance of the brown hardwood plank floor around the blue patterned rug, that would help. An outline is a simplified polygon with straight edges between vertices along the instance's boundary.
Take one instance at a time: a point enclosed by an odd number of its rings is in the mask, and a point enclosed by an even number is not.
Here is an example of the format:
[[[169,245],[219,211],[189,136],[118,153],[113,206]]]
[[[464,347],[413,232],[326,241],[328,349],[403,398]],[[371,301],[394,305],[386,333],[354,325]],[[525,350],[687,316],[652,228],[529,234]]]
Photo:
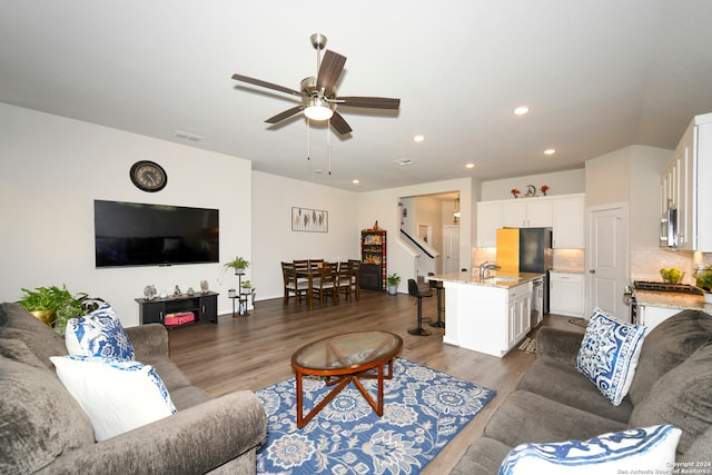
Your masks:
[[[424,327],[431,336],[413,336],[416,299],[406,294],[362,290],[358,301],[325,304],[309,310],[306,303],[283,306],[281,298],[258,301],[248,317],[221,315],[218,325],[189,325],[169,330],[170,356],[194,384],[210,396],[257,390],[294,376],[293,353],[307,343],[333,334],[378,329],[403,338],[402,357],[495,389],[497,395],[441,454],[424,475],[448,473],[482,434],[501,402],[514,390],[534,355],[513,349],[503,358],[443,344],[444,329]],[[425,298],[424,318],[436,319],[436,298]],[[445,318],[446,319],[446,318]],[[542,325],[572,326],[566,317],[546,316]],[[573,327],[573,326],[572,326]]]

